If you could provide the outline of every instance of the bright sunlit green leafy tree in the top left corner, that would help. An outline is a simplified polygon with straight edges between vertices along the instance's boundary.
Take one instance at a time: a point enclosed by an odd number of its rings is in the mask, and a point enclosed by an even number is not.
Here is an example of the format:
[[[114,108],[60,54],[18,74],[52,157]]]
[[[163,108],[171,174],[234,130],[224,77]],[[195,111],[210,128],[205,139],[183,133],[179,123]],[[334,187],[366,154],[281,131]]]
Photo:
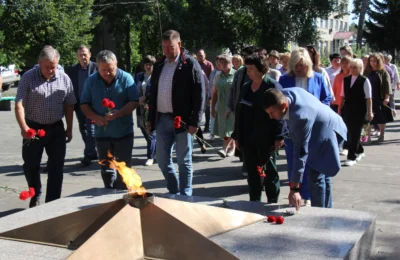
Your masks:
[[[0,21],[1,49],[8,62],[32,67],[40,50],[52,45],[64,66],[76,63],[76,49],[92,40],[99,19],[92,17],[93,0],[6,0]]]

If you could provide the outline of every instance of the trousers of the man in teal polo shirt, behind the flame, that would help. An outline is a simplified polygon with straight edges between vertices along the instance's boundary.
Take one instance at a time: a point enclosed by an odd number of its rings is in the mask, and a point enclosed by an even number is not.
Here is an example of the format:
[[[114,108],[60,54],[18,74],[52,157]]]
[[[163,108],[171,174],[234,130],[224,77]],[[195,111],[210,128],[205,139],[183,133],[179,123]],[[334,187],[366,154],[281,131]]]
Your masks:
[[[96,140],[97,151],[99,152],[99,162],[103,161],[101,166],[101,177],[103,178],[104,187],[108,189],[126,190],[127,187],[122,181],[122,177],[115,169],[110,168],[107,153],[114,156],[118,162],[125,162],[126,166],[132,166],[132,147],[133,134],[118,138],[106,139],[99,138]]]

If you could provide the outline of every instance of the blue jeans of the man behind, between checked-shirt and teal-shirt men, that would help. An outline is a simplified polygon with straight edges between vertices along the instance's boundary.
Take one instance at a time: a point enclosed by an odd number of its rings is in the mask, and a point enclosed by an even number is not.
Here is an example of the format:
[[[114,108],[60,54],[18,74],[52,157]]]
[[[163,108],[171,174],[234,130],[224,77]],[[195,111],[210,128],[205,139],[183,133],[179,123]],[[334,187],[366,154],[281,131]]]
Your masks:
[[[87,118],[80,108],[75,110],[76,118],[79,123],[79,132],[81,132],[85,150],[83,155],[89,159],[97,157],[96,140],[94,138],[94,124]]]

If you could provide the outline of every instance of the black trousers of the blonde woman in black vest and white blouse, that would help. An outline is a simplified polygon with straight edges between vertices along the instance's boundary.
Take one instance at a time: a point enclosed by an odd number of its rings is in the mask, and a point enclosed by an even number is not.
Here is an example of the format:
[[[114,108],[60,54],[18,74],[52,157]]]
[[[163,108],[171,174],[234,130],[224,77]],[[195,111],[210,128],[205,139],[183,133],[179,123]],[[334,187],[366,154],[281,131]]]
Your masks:
[[[357,154],[364,152],[361,145],[361,131],[365,123],[365,110],[357,109],[357,107],[346,107],[344,122],[347,126],[347,159],[354,161]]]

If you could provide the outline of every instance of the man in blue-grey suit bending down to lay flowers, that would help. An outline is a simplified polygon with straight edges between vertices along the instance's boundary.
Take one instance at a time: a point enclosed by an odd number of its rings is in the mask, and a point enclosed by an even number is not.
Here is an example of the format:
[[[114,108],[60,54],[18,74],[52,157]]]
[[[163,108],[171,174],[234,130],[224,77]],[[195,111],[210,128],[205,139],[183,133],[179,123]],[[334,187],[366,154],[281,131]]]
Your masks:
[[[340,170],[339,143],[346,139],[342,118],[302,88],[268,89],[264,108],[271,118],[285,120],[294,143],[289,203],[301,205],[300,184],[310,168],[309,188],[313,207],[332,207],[331,177]]]

